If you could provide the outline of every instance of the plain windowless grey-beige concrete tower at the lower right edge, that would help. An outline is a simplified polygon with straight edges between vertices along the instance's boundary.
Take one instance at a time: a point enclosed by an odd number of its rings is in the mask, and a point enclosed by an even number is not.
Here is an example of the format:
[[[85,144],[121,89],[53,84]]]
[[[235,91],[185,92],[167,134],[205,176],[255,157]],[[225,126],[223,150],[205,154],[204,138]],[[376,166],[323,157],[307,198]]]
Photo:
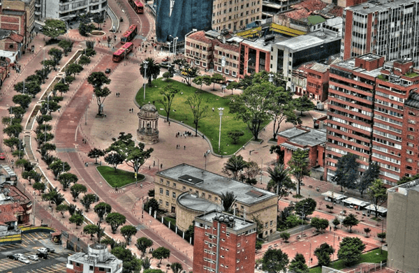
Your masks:
[[[401,272],[417,272],[419,180],[390,188],[387,193],[387,265]]]

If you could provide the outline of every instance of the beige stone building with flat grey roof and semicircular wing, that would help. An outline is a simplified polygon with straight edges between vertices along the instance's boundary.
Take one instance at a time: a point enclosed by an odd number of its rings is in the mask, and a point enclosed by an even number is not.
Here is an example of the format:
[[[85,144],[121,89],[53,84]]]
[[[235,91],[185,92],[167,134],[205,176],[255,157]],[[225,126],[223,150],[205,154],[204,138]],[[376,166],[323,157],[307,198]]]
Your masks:
[[[237,216],[246,214],[249,219],[254,217],[263,223],[260,237],[277,230],[276,194],[207,170],[187,164],[162,170],[156,174],[154,190],[161,209],[176,214],[176,225],[181,230],[191,225],[193,217],[212,209],[211,205],[221,207],[221,193],[227,191],[236,195],[233,209]]]

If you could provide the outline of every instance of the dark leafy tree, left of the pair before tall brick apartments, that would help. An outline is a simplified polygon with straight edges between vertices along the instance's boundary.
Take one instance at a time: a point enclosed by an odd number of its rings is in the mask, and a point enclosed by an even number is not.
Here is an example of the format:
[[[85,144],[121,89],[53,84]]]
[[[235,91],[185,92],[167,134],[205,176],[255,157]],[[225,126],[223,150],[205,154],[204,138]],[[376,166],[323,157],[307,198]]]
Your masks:
[[[341,186],[341,191],[346,189],[355,189],[355,182],[358,180],[358,167],[360,163],[357,160],[358,156],[355,154],[345,154],[336,164],[336,172],[334,182]]]

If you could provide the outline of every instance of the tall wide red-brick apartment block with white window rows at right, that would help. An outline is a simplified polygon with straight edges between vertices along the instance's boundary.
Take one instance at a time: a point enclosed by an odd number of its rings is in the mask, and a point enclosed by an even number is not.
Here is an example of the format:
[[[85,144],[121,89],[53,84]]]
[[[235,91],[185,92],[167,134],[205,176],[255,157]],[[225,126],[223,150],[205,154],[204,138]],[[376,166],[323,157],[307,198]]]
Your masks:
[[[384,61],[376,54],[332,64],[328,105],[325,176],[335,175],[344,154],[358,156],[360,172],[370,162],[380,178],[395,185],[419,172],[419,71],[411,59]]]

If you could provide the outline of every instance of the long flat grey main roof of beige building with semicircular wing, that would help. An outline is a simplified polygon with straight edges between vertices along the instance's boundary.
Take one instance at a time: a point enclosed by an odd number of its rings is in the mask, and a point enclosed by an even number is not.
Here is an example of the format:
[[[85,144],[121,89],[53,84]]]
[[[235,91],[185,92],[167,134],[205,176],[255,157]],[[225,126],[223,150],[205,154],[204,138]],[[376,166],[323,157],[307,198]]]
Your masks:
[[[161,172],[158,172],[158,175],[168,177],[169,179],[174,179],[179,182],[186,182],[181,178],[184,177],[184,175],[189,175],[190,177],[195,177],[196,179],[202,179],[203,182],[192,185],[196,186],[198,189],[203,189],[217,195],[221,195],[221,193],[226,193],[227,191],[233,191],[237,196],[236,200],[244,204],[253,204],[274,198],[274,196],[276,196],[270,191],[258,189],[254,186],[250,186],[185,163],[167,170],[162,170]],[[258,194],[255,195],[254,193]]]

